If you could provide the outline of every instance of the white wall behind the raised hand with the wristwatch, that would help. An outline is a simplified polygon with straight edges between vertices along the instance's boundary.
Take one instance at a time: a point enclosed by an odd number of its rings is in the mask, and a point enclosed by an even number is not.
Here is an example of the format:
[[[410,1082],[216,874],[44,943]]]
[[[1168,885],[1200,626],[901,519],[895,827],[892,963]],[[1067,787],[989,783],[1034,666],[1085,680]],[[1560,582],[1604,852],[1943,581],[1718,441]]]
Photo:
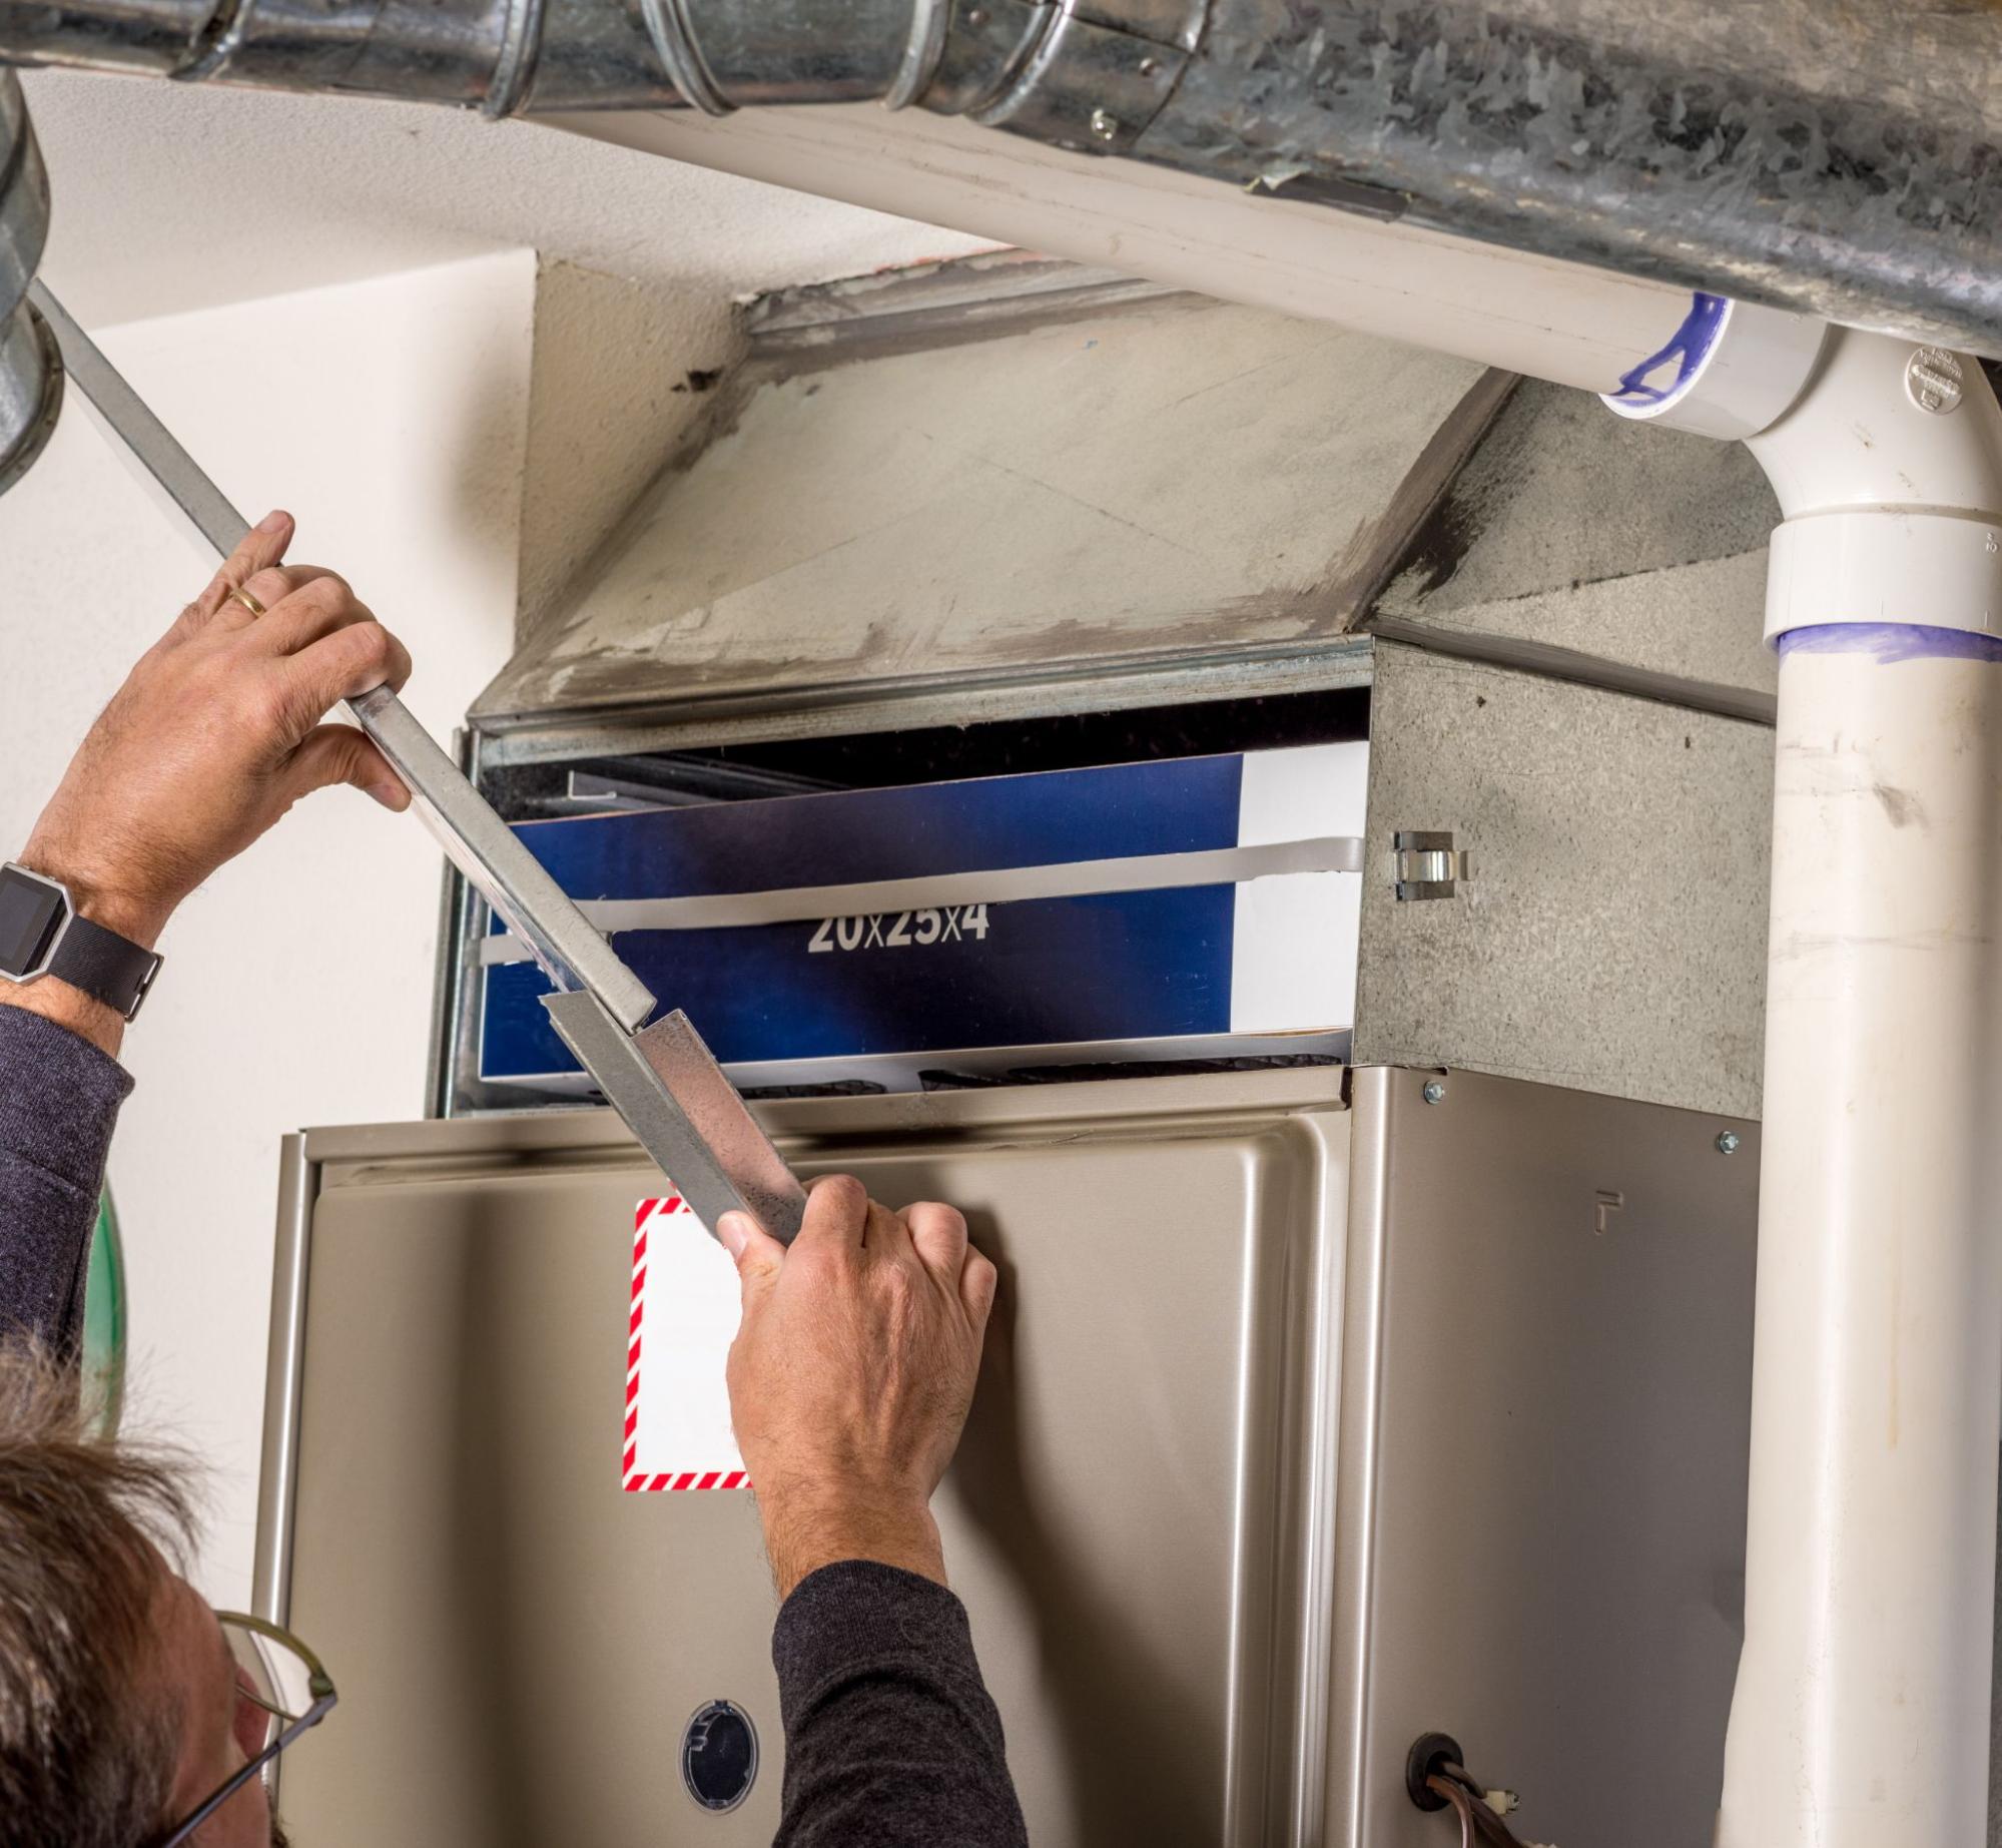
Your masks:
[[[288,507],[292,557],[404,637],[408,701],[444,737],[511,647],[533,320],[521,250],[104,346],[250,519]],[[0,499],[0,857],[210,569],[70,410]],[[420,1113],[438,865],[414,819],[322,791],[188,901],[126,1041],[132,1416],[214,1464],[198,1578],[220,1604],[250,1590],[278,1137]]]

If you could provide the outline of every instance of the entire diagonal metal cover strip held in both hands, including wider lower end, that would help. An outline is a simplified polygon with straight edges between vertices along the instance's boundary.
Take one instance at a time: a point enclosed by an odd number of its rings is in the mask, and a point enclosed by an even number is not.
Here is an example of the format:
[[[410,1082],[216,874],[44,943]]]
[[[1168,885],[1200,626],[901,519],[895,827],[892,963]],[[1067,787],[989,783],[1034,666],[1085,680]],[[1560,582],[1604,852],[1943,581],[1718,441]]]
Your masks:
[[[34,300],[62,342],[70,376],[112,434],[218,555],[236,551],[248,533],[244,517],[40,282]],[[545,1003],[557,1031],[703,1223],[743,1207],[775,1237],[799,1231],[805,1189],[689,1021],[677,1013],[635,1035],[653,1013],[653,993],[410,709],[388,687],[376,687],[350,699],[348,711],[408,785],[452,865],[533,947],[561,991]],[[282,1584],[266,1586],[266,1594],[282,1600]]]

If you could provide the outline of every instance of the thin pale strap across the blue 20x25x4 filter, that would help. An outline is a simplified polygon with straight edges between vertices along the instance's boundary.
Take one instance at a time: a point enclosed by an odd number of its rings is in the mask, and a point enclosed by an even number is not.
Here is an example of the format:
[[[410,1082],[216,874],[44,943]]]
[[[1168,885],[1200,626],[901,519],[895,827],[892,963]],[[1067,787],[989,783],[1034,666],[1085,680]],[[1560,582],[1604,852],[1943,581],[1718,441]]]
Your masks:
[[[785,891],[699,893],[687,899],[585,899],[579,911],[607,935],[617,931],[715,931],[743,925],[807,923],[823,917],[1013,905],[1021,899],[1077,899],[1089,893],[1179,891],[1191,885],[1241,885],[1279,873],[1359,873],[1357,835],[1315,835],[1259,847],[1209,847],[1193,853],[1133,853],[1123,859],[1077,859],[1047,867],[983,867],[917,879],[871,879],[857,885],[797,885]],[[933,919],[937,927],[937,919]],[[929,943],[929,937],[917,939]],[[525,963],[529,949],[509,937],[480,943],[480,963]]]

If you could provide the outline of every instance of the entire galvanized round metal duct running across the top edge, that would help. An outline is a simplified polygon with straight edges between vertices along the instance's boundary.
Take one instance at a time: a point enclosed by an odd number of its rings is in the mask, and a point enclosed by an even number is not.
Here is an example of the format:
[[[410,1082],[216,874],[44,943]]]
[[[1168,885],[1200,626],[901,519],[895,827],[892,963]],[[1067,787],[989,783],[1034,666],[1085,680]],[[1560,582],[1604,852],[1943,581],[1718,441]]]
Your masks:
[[[0,56],[488,114],[881,98],[2002,352],[1988,0],[0,0]]]

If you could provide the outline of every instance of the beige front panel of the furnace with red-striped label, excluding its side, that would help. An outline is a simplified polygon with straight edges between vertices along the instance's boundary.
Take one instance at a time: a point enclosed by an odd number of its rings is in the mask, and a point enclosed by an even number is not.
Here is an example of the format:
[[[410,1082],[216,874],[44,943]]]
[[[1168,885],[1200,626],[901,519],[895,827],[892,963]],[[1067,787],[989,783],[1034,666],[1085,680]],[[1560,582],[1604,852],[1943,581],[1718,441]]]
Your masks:
[[[807,1171],[963,1203],[1003,1311],[941,1492],[1039,1848],[1295,1838],[1347,1115],[1339,1071],[769,1111]],[[747,1494],[625,1494],[633,1203],[607,1113],[320,1131],[294,1177],[296,1450],[264,1586],[342,1702],[300,1840],[769,1842],[773,1588]],[[280,1420],[282,1424],[282,1420]],[[294,1520],[276,1520],[296,1486]],[[288,1558],[286,1558],[288,1546]],[[687,1720],[763,1770],[709,1814]],[[1305,1748],[1319,1756],[1319,1740]],[[294,1762],[296,1760],[296,1762]]]

